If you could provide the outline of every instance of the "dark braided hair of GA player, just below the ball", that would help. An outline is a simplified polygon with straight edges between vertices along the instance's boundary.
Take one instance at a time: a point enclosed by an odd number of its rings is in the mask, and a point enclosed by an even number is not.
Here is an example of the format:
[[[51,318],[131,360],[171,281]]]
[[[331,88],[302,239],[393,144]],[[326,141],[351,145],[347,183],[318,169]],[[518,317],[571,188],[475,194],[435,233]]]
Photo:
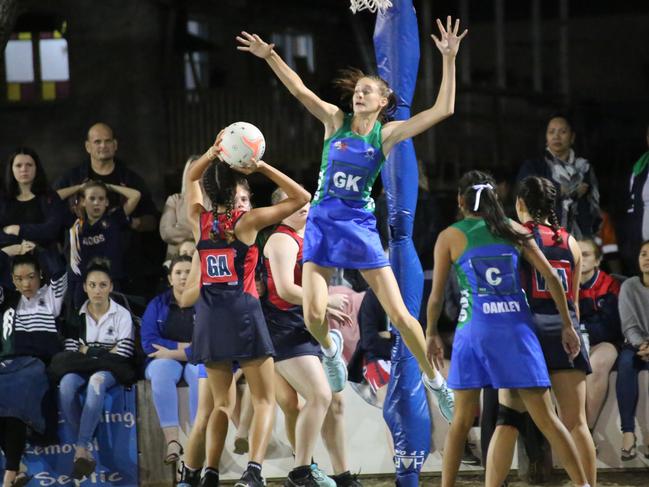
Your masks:
[[[234,230],[231,227],[232,212],[234,211],[234,197],[237,186],[249,188],[248,181],[240,176],[224,162],[215,162],[203,173],[203,187],[205,193],[212,201],[213,224],[210,230],[212,240],[225,239],[228,243],[234,240]],[[225,207],[225,228],[219,229],[218,207]]]

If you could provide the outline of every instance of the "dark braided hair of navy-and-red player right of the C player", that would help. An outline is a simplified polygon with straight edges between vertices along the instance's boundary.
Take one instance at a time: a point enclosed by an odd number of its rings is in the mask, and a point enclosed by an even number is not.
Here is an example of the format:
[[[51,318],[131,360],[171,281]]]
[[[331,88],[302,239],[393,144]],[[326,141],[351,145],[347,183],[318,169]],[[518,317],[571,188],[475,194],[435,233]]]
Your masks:
[[[554,233],[552,239],[555,243],[563,243],[561,225],[554,210],[557,200],[557,188],[554,184],[545,178],[528,176],[520,182],[516,196],[525,203],[527,211],[532,215],[534,226],[542,225],[548,220]]]

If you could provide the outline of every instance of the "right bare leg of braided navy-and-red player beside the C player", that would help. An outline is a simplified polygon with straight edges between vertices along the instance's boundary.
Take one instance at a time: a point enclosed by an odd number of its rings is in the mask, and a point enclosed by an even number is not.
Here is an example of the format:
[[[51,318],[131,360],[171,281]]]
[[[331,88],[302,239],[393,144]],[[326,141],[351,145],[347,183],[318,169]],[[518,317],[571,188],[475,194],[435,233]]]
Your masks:
[[[550,374],[550,380],[559,403],[559,417],[575,442],[588,483],[595,487],[597,460],[586,422],[586,374],[579,370],[555,371]]]

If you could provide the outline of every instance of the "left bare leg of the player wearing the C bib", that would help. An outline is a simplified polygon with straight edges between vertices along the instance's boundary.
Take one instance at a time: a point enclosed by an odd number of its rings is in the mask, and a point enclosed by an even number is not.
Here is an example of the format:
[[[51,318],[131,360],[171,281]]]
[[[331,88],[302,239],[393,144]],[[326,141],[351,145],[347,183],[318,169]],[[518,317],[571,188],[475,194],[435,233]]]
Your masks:
[[[464,442],[473,426],[475,411],[479,403],[480,389],[455,391],[455,414],[444,443],[442,487],[455,485],[457,471],[464,453]]]

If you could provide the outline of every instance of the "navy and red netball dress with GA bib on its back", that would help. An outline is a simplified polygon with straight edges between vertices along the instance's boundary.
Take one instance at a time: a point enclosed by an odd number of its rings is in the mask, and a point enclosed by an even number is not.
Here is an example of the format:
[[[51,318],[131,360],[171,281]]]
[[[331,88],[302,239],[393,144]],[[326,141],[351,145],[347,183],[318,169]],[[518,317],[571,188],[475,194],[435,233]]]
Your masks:
[[[236,238],[228,243],[225,230],[234,229],[244,212],[231,218],[218,215],[218,238],[210,232],[212,213],[200,217],[196,245],[201,263],[201,294],[194,308],[194,363],[243,361],[274,355],[273,344],[255,287],[258,249]]]

